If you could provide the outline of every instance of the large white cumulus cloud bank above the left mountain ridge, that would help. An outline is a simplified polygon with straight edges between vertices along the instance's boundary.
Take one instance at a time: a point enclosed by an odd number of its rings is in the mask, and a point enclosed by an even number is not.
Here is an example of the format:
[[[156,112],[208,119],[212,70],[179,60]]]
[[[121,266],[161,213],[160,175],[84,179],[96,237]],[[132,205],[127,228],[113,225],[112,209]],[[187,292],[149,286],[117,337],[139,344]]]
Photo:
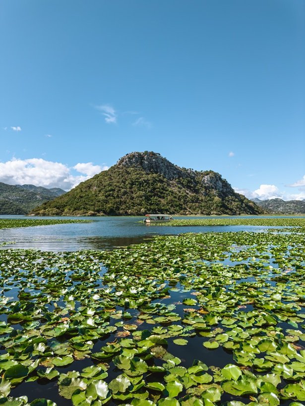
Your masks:
[[[75,169],[78,173],[72,173]],[[60,162],[42,158],[16,159],[0,162],[0,182],[9,185],[32,184],[45,188],[58,187],[64,190],[91,178],[97,170],[107,170],[107,166],[89,163],[77,163],[73,168]]]

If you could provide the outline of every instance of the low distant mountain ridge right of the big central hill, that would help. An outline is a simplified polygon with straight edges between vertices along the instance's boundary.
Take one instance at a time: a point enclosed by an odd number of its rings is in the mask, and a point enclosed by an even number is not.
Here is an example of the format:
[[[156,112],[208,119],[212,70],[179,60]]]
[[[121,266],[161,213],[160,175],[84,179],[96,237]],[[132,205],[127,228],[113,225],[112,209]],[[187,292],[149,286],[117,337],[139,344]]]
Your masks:
[[[305,214],[304,200],[285,201],[277,198],[270,200],[253,199],[252,201],[272,214]]]

